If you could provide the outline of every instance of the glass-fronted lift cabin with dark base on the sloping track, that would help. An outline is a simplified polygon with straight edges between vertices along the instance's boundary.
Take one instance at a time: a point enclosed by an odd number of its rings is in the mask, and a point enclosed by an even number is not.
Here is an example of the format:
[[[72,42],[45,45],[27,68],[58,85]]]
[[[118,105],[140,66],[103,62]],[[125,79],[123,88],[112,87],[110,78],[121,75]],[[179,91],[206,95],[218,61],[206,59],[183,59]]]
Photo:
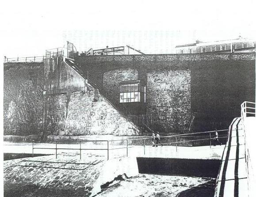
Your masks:
[[[124,105],[130,114],[145,114],[145,81],[122,81],[120,83],[120,104]]]

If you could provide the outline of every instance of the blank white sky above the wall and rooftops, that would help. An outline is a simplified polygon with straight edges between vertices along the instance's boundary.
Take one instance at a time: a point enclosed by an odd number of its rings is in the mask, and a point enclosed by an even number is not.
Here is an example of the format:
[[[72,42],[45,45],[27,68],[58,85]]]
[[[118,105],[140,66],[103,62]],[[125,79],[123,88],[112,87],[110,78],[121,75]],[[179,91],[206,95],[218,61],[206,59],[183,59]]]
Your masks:
[[[144,53],[175,46],[256,38],[255,0],[4,1],[3,55],[42,56],[72,42],[78,51],[130,45]]]

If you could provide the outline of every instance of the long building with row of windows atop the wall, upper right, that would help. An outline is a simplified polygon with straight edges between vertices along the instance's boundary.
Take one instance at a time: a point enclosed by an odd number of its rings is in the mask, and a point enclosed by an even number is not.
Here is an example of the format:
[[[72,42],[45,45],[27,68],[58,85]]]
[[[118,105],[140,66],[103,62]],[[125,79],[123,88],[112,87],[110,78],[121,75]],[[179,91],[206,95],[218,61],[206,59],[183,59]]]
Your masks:
[[[200,42],[177,45],[175,47],[177,54],[183,53],[252,53],[256,50],[256,40],[249,38],[220,40],[213,42]]]

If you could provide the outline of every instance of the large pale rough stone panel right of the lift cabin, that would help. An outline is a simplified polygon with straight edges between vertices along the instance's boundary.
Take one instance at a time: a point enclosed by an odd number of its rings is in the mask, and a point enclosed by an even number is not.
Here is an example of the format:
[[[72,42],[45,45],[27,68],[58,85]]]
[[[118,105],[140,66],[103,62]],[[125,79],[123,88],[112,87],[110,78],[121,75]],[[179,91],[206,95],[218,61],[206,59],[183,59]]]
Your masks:
[[[147,73],[147,114],[166,116],[173,124],[172,118],[190,121],[190,70],[158,70]],[[181,117],[183,116],[183,117]],[[179,123],[181,124],[181,122]]]

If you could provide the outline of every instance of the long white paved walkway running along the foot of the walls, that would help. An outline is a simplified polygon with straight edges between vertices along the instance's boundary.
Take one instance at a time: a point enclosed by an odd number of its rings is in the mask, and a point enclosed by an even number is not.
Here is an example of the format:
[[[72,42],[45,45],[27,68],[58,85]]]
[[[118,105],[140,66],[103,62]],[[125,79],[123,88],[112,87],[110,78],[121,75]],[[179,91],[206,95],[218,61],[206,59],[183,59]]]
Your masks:
[[[34,148],[55,148],[56,144],[34,144]],[[222,146],[202,146],[202,147],[177,147],[176,146],[159,146],[152,147],[151,145],[145,146],[132,146],[128,147],[128,156],[141,156],[141,157],[159,157],[159,158],[183,158],[183,159],[221,159],[222,152],[225,145]],[[65,150],[64,148],[80,148],[80,144],[57,144],[57,148],[63,148],[57,150],[57,155],[63,155],[65,153],[77,155],[79,158],[80,150]],[[95,148],[95,149],[107,149],[106,144],[81,144],[81,148]],[[126,156],[126,145],[109,145],[109,149],[119,148],[115,150],[109,150],[109,158],[115,158],[119,156]],[[145,154],[144,154],[145,150]],[[7,143],[4,144],[4,153],[31,153],[32,143]],[[34,149],[34,153],[41,154],[54,154],[55,149]],[[82,150],[81,157],[102,157],[107,159],[107,150]],[[55,156],[54,156],[55,157]]]

